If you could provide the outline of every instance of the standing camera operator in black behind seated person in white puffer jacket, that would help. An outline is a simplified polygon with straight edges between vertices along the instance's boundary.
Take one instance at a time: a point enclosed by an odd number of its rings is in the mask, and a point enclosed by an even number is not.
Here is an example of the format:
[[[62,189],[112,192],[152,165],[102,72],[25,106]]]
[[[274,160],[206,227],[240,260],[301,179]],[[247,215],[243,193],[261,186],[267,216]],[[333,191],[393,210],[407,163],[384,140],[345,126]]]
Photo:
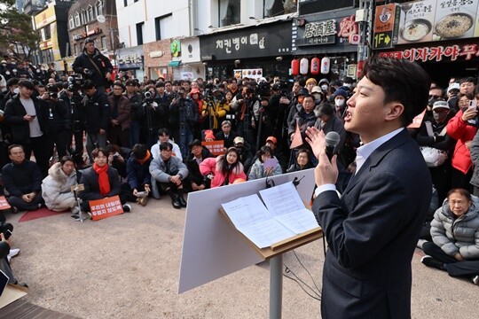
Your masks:
[[[57,85],[49,84],[47,91],[40,98],[48,106],[48,125],[51,141],[56,145],[59,159],[61,159],[67,155],[68,132],[71,128],[67,104],[62,99],[59,99]]]

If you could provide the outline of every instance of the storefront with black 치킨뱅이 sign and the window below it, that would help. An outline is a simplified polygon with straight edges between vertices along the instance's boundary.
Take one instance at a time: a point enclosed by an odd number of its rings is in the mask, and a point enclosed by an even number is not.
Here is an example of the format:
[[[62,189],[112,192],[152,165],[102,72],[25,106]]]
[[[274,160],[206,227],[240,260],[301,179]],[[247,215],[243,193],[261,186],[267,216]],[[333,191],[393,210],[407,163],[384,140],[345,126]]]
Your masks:
[[[289,75],[291,19],[200,35],[206,78],[229,79]]]

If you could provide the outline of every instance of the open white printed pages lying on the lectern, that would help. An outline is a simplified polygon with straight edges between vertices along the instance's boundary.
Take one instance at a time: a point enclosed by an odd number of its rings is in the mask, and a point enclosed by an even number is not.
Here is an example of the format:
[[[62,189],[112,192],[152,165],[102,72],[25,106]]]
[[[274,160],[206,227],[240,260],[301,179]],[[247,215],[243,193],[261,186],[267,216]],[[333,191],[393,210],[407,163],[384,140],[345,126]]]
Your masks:
[[[318,222],[304,207],[293,183],[265,191],[260,191],[260,194],[269,209],[256,194],[222,204],[236,229],[257,247],[269,247],[318,227]]]

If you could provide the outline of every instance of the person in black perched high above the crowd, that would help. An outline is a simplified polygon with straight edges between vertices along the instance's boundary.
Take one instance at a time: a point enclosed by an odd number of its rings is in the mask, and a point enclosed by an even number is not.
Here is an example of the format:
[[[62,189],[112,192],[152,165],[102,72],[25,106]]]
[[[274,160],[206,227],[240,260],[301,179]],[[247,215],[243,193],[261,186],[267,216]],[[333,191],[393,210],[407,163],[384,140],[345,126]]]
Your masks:
[[[105,92],[111,80],[113,66],[110,60],[95,48],[95,41],[85,40],[85,47],[72,65],[75,73],[82,74],[86,79],[95,83],[98,90]]]

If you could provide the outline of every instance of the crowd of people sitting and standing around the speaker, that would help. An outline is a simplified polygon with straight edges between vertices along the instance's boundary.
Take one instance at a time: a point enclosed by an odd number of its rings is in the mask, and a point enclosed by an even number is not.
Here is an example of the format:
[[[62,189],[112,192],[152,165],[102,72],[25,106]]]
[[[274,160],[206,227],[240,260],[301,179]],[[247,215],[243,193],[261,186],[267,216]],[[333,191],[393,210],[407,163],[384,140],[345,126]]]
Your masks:
[[[161,194],[179,209],[187,191],[315,167],[309,128],[339,134],[343,191],[364,143],[344,128],[347,101],[357,94],[349,77],[140,81],[112,75],[90,41],[73,68],[67,75],[2,61],[0,165],[13,213],[47,206],[78,215],[90,211],[90,200],[114,195],[126,212],[128,202],[145,206]],[[450,191],[479,195],[479,118],[470,107],[477,99],[473,78],[452,78],[446,89],[433,82],[420,128],[409,128],[421,150],[443,154],[429,166],[434,190],[423,238],[435,243],[434,213],[444,211]],[[224,153],[214,156],[208,141],[223,141]],[[77,183],[81,205],[71,191]],[[475,241],[479,247],[479,227]]]

